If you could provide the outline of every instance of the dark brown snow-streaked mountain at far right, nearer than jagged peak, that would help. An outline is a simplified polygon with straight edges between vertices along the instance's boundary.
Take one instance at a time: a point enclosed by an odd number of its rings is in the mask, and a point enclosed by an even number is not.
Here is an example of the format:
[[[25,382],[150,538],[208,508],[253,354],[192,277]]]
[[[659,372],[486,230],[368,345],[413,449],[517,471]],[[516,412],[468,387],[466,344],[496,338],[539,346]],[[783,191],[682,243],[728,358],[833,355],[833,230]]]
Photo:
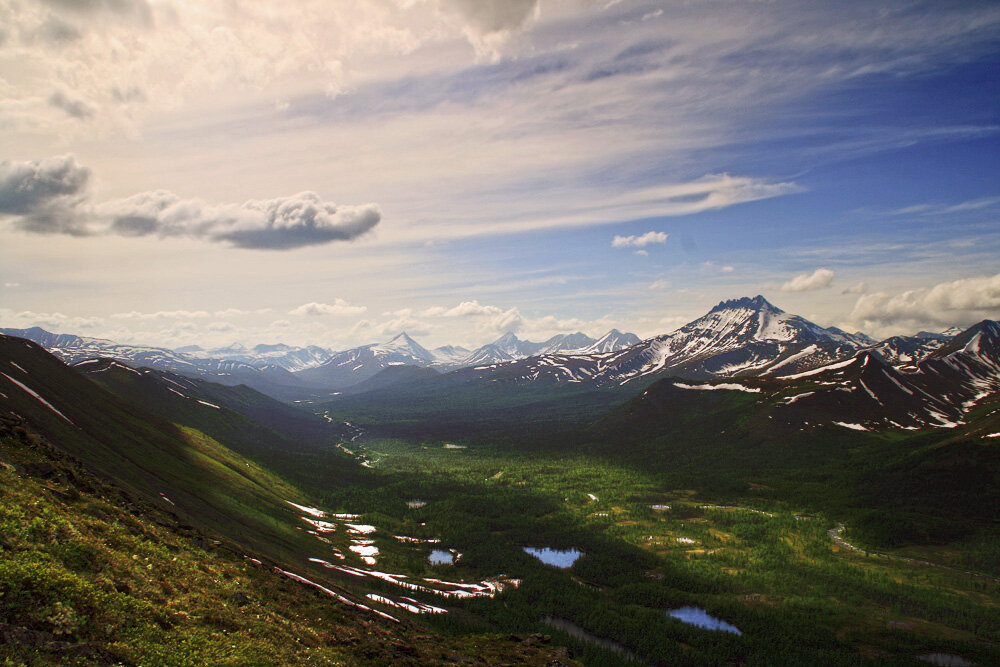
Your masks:
[[[632,417],[623,413],[620,419],[641,419],[647,430],[656,430],[657,413],[663,414],[669,403],[679,404],[678,391],[685,409],[694,412],[711,409],[693,407],[691,401],[698,397],[710,406],[722,394],[739,392],[754,400],[754,418],[766,417],[772,432],[957,429],[969,422],[981,401],[1000,391],[1000,324],[980,322],[908,368],[890,365],[879,350],[862,349],[847,359],[776,379],[702,384],[667,378],[629,404],[625,413]]]

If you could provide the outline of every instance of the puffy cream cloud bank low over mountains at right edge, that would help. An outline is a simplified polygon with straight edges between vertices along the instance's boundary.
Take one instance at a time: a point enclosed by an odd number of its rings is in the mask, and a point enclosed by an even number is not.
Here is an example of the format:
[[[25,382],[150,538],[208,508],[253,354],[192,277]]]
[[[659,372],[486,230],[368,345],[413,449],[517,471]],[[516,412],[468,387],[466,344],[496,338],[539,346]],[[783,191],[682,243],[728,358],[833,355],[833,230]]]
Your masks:
[[[901,294],[858,298],[850,319],[869,328],[967,326],[1000,316],[1000,273],[939,283]]]

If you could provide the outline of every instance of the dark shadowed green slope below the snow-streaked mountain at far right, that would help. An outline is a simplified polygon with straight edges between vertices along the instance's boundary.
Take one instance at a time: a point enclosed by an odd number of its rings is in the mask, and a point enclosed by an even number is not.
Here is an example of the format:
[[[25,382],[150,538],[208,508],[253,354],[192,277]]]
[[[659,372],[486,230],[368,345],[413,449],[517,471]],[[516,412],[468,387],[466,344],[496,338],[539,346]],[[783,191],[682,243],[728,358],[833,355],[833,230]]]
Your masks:
[[[766,487],[850,519],[874,546],[976,542],[1000,531],[1000,441],[983,437],[1000,431],[1000,399],[982,401],[954,429],[885,431],[829,424],[819,412],[788,423],[786,401],[665,380],[597,422],[583,447],[716,497]],[[988,569],[1000,573],[1000,559]]]

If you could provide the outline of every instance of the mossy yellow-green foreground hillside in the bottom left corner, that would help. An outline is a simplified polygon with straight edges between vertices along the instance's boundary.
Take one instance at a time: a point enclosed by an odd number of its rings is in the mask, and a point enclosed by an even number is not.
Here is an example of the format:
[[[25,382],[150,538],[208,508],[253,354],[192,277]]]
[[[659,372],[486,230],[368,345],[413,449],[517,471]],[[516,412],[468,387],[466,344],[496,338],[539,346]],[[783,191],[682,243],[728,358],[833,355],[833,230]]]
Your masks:
[[[349,610],[186,527],[0,420],[8,667],[546,665],[527,637],[445,638]]]

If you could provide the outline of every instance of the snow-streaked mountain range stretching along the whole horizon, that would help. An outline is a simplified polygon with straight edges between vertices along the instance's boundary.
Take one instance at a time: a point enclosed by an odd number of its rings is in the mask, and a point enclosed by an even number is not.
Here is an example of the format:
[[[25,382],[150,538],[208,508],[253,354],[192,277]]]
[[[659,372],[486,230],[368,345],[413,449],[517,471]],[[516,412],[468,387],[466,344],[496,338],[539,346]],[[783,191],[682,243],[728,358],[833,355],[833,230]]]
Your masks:
[[[981,347],[985,345],[983,349],[989,349],[994,331],[988,323],[978,326],[982,335],[977,340]],[[472,391],[484,386],[561,386],[580,390],[621,387],[628,393],[632,385],[634,391],[640,391],[665,376],[699,381],[809,377],[812,386],[814,373],[824,377],[832,372],[854,373],[855,365],[861,363],[858,360],[863,359],[865,365],[858,367],[855,385],[866,387],[868,394],[874,394],[872,387],[882,387],[886,406],[908,406],[906,410],[887,409],[886,415],[891,417],[880,422],[903,427],[933,425],[934,415],[941,417],[940,423],[960,418],[950,396],[924,398],[935,392],[933,387],[925,386],[928,373],[937,378],[947,375],[946,384],[955,386],[955,397],[969,401],[972,396],[963,388],[987,382],[984,375],[992,368],[989,360],[973,363],[964,357],[961,362],[952,360],[952,365],[932,362],[950,358],[941,355],[952,350],[954,341],[964,340],[968,332],[958,336],[957,330],[919,332],[875,341],[862,333],[822,327],[786,313],[759,295],[723,301],[677,330],[646,340],[612,330],[599,340],[575,333],[535,343],[507,333],[471,352],[458,346],[428,350],[406,332],[385,343],[332,352],[316,346],[294,348],[280,344],[170,350],[53,334],[37,327],[0,331],[32,340],[73,364],[110,358],[134,368],[223,385],[245,384],[281,400],[313,402],[338,394],[390,392],[399,398],[415,392],[429,392],[431,396],[456,387]],[[971,353],[966,350],[965,354]],[[949,370],[954,364],[966,373],[976,367],[979,375],[974,379],[952,377],[957,372]],[[873,378],[872,373],[877,377]],[[828,386],[843,381],[829,380]],[[811,392],[810,398],[797,400],[796,410],[823,394]],[[898,395],[888,398],[889,394]],[[912,405],[913,396],[921,397],[921,407]]]

